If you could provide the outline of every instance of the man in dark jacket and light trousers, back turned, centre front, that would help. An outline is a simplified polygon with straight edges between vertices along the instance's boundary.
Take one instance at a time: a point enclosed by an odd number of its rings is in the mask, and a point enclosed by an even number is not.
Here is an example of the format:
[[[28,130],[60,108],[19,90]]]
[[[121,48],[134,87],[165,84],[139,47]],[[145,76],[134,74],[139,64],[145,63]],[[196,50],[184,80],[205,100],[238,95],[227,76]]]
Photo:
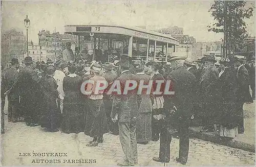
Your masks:
[[[125,159],[120,166],[130,166],[138,163],[136,121],[139,116],[137,104],[137,89],[123,93],[126,80],[137,81],[137,76],[131,74],[129,58],[122,56],[120,59],[121,75],[116,80],[120,82],[121,94],[114,93],[111,112],[112,121],[118,121],[119,137]],[[117,114],[117,120],[116,118]]]

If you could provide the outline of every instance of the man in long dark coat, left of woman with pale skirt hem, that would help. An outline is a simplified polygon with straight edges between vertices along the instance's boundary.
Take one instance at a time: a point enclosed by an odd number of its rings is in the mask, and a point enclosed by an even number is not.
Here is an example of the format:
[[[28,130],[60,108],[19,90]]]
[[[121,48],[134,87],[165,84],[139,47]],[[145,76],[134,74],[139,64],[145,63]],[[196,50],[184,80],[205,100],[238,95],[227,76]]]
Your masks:
[[[217,82],[219,78],[219,73],[214,63],[214,56],[204,57],[205,69],[202,73],[202,76],[199,80],[200,84],[200,94],[201,94],[201,103],[202,103],[202,123],[203,129],[201,132],[210,132],[214,129],[214,121],[216,121],[215,112],[216,112],[216,102],[217,97]]]

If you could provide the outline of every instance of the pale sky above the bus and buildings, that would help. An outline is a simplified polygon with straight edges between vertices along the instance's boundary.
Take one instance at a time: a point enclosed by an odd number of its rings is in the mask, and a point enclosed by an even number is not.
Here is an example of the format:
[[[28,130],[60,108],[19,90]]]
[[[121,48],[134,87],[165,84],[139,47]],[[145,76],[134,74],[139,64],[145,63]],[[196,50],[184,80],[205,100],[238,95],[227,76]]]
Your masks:
[[[178,26],[197,41],[220,41],[223,34],[208,32],[214,21],[208,12],[213,1],[6,1],[2,2],[2,32],[15,28],[26,34],[24,19],[31,24],[29,41],[38,42],[40,30],[63,33],[65,25]],[[254,1],[248,2],[254,4]],[[255,4],[254,4],[255,6]],[[255,11],[246,19],[255,36]]]

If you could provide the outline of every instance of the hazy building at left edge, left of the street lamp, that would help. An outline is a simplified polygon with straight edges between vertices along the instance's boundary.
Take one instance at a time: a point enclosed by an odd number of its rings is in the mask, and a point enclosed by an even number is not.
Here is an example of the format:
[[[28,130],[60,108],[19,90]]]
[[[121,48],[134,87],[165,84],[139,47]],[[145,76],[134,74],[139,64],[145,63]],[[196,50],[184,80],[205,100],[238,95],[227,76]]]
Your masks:
[[[27,53],[25,35],[22,31],[11,29],[4,32],[1,38],[1,64],[7,65],[12,58],[23,60],[23,55]]]

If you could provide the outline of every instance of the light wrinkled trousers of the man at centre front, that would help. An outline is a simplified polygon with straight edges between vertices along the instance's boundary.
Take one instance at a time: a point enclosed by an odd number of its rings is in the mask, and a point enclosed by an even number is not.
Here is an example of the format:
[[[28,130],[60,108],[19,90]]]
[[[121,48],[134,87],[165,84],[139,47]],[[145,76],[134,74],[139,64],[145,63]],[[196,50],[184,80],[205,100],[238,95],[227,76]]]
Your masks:
[[[138,161],[138,148],[136,139],[136,121],[118,122],[119,138],[123,152],[125,154],[124,161],[134,164]]]

